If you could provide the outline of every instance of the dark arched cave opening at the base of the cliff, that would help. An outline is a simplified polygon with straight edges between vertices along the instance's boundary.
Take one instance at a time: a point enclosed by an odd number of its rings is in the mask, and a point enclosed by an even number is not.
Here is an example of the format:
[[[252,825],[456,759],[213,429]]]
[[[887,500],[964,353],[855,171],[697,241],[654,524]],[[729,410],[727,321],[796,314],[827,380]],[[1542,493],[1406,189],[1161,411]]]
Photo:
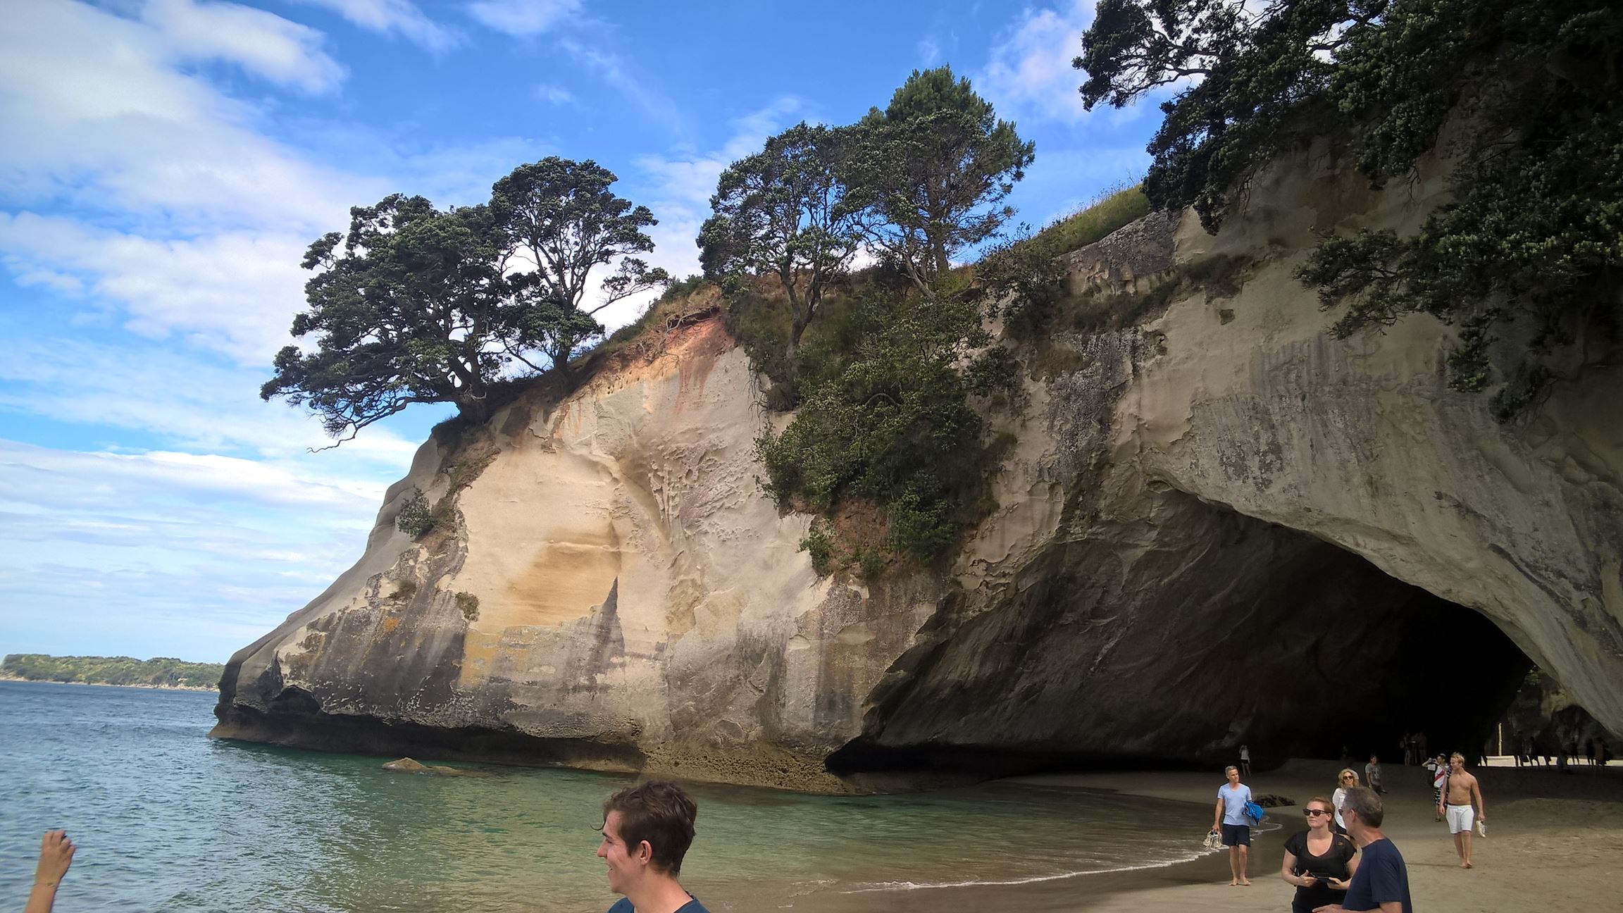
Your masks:
[[[1175,491],[1157,507],[1055,544],[997,606],[943,604],[828,768],[1208,767],[1240,744],[1362,768],[1417,731],[1474,759],[1530,668],[1490,619],[1336,544]]]

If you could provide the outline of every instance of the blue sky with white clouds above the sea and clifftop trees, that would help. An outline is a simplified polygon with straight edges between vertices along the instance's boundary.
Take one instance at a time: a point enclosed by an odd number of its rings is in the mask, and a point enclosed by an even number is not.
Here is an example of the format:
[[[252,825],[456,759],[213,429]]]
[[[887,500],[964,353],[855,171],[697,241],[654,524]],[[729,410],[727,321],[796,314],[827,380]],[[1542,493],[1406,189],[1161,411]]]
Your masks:
[[[596,159],[698,271],[716,177],[951,63],[1042,226],[1136,180],[1149,106],[1083,112],[1092,3],[21,0],[0,18],[0,653],[222,661],[359,557],[446,408],[336,450],[258,387],[304,249],[391,192]],[[641,301],[613,305],[610,327]]]

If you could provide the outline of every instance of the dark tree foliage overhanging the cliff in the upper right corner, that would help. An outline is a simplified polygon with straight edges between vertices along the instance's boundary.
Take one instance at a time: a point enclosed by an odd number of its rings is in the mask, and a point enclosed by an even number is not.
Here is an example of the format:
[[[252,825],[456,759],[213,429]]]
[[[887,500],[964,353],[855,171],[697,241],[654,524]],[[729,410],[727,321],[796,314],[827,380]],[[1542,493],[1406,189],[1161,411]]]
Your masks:
[[[1620,54],[1608,0],[1102,0],[1076,65],[1089,107],[1175,89],[1144,190],[1208,231],[1292,143],[1341,136],[1380,185],[1453,125],[1453,201],[1326,239],[1298,276],[1345,309],[1337,335],[1457,323],[1451,385],[1511,418],[1617,341]]]

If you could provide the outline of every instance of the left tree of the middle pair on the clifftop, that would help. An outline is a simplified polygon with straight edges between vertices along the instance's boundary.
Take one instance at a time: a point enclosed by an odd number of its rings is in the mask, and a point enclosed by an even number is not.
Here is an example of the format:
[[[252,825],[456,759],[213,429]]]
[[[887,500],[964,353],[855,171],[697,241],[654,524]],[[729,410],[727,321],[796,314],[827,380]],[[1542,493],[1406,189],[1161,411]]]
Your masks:
[[[722,172],[714,214],[700,231],[706,278],[777,276],[789,296],[790,366],[823,292],[849,271],[862,244],[863,208],[852,205],[844,179],[854,140],[849,128],[805,122],[769,138]]]

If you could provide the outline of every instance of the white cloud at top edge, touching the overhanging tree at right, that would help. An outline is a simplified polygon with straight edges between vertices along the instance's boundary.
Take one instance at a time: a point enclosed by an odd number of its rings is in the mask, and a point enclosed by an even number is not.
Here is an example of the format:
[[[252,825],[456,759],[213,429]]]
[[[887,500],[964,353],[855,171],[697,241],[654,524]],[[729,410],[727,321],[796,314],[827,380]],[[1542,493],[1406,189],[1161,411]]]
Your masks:
[[[1083,120],[1087,110],[1078,88],[1087,76],[1071,60],[1083,52],[1083,32],[1092,21],[1092,0],[1074,0],[1058,11],[1026,8],[992,47],[975,88],[1006,119]]]

